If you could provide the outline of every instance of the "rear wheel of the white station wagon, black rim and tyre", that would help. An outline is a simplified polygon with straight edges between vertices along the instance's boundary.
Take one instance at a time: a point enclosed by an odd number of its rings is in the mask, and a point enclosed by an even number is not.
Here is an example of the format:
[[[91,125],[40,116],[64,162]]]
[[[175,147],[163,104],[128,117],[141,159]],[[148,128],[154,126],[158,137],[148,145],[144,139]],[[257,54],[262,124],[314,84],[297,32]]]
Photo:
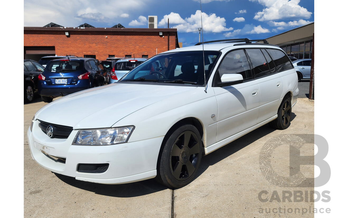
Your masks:
[[[289,96],[285,96],[278,108],[277,118],[269,123],[270,126],[281,130],[288,128],[290,126],[291,110],[291,99]]]

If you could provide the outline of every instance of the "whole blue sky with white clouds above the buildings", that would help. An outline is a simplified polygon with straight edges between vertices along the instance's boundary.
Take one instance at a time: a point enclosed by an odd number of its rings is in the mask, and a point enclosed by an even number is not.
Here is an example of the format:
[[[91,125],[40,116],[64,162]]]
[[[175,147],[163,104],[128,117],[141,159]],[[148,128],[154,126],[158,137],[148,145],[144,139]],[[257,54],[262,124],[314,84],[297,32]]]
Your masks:
[[[24,26],[56,23],[77,27],[147,28],[148,16],[158,17],[158,28],[177,28],[183,46],[199,40],[266,39],[314,22],[311,0],[25,0]],[[202,40],[202,34],[200,35]]]

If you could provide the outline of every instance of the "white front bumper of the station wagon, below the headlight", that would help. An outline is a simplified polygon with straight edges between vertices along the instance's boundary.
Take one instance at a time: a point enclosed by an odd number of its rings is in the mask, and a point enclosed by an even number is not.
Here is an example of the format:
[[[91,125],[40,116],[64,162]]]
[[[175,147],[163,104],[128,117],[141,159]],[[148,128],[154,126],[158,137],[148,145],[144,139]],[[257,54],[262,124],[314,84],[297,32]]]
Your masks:
[[[27,131],[32,158],[52,172],[75,179],[102,184],[123,184],[156,176],[156,165],[164,137],[104,146],[72,145],[77,134],[73,130],[68,139],[50,139],[34,122]],[[59,162],[50,156],[66,159]],[[109,164],[105,172],[78,172],[79,164]]]

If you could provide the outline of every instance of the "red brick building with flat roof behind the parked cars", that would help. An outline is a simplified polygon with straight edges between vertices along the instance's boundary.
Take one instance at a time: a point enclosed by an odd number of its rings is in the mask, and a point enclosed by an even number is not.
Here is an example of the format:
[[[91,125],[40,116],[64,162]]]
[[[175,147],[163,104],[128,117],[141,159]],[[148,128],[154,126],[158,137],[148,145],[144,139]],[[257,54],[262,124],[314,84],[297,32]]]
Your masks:
[[[169,42],[168,42],[169,35]],[[24,58],[76,55],[105,60],[107,57],[152,57],[178,48],[173,28],[24,27]]]

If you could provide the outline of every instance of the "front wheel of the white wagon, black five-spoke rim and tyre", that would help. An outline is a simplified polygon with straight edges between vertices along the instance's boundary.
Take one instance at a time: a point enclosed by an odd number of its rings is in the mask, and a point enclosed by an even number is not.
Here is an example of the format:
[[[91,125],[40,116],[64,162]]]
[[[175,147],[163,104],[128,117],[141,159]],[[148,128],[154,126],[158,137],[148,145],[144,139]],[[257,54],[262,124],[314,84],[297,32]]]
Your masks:
[[[156,180],[180,188],[196,175],[202,157],[202,140],[197,128],[187,124],[173,131],[160,154]]]

